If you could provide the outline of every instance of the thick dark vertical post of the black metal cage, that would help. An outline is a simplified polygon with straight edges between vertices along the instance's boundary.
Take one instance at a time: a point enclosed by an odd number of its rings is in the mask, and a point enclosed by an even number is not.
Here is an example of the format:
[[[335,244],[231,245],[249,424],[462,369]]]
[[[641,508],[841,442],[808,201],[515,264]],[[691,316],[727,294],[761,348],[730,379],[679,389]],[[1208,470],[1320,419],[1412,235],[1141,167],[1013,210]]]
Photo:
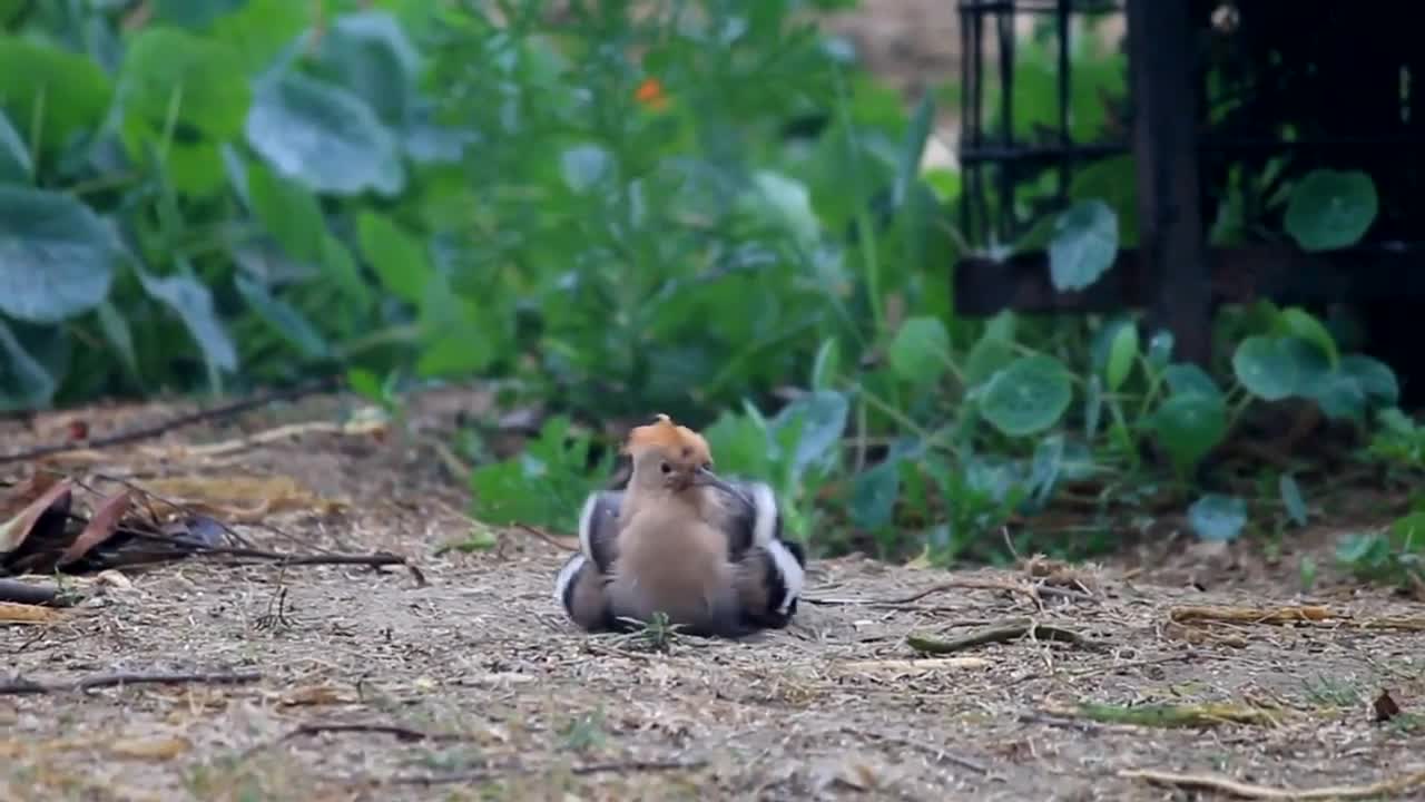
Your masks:
[[[1151,328],[1180,358],[1211,355],[1210,288],[1198,210],[1196,29],[1190,0],[1129,0],[1129,81],[1139,243],[1153,287]]]

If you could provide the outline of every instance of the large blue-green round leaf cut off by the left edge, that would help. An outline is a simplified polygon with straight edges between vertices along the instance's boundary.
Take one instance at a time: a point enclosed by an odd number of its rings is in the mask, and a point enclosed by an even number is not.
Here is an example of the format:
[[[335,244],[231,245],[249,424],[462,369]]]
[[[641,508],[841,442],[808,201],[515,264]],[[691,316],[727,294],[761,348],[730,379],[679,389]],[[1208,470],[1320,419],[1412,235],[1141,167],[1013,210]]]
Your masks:
[[[61,193],[0,187],[0,311],[60,323],[97,307],[118,251],[87,205]]]

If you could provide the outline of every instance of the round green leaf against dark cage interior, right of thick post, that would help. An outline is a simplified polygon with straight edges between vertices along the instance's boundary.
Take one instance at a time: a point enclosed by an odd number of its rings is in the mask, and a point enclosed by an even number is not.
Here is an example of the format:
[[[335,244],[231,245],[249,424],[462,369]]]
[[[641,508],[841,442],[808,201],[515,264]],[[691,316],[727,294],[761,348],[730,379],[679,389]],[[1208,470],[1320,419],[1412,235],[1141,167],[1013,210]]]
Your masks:
[[[1375,221],[1375,183],[1358,170],[1312,170],[1291,190],[1287,234],[1305,251],[1347,248]]]

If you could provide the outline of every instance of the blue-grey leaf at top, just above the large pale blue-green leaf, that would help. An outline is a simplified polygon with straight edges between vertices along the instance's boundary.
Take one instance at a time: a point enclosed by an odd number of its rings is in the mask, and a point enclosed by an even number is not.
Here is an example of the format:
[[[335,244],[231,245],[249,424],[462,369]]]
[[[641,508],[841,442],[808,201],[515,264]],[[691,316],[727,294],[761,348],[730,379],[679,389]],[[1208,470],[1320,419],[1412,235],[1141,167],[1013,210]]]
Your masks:
[[[392,128],[415,101],[420,70],[415,46],[388,11],[341,14],[316,47],[316,71],[361,96]]]

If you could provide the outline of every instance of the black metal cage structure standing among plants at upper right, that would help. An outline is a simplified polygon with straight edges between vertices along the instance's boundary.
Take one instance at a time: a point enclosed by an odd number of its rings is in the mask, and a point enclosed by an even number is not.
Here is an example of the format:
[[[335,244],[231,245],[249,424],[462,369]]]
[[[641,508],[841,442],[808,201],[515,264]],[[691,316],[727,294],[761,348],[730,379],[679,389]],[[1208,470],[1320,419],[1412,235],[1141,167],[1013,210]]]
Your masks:
[[[1415,270],[1425,47],[1409,4],[960,0],[959,14],[960,225],[978,245],[1022,245],[1009,260],[960,261],[960,311],[1143,305],[1176,334],[1180,355],[1203,361],[1223,303],[1352,303],[1379,328],[1391,307],[1425,297]],[[1109,46],[1121,49],[1126,80],[1086,88],[1096,76],[1080,74],[1073,47],[1106,21],[1124,30]],[[1036,103],[1023,94],[1026,43],[1039,49]],[[1103,124],[1077,124],[1076,93],[1099,90]],[[1025,113],[1032,124],[1016,118]],[[1129,196],[1124,247],[1094,285],[1057,293],[1043,224],[1076,180],[1116,157],[1130,168],[1100,188]],[[1314,168],[1372,178],[1379,213],[1355,247],[1307,253],[1282,235],[1282,188]]]

